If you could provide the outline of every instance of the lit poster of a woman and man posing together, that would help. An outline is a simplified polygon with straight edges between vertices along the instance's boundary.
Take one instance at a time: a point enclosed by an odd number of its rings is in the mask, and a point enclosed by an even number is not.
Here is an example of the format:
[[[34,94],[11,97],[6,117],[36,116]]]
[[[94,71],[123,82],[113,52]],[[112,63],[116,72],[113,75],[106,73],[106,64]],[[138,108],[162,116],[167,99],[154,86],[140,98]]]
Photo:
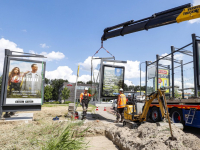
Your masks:
[[[40,61],[9,59],[4,105],[41,105],[43,67]]]

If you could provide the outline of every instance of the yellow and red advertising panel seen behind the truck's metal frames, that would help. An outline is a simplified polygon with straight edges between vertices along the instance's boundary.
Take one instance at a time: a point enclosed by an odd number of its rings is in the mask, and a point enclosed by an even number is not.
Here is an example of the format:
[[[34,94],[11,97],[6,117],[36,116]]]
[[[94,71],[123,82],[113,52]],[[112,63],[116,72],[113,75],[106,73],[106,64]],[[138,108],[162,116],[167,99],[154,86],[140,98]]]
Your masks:
[[[158,70],[158,88],[169,86],[169,70]],[[157,90],[157,78],[155,78],[155,89]],[[169,93],[169,89],[165,93]]]

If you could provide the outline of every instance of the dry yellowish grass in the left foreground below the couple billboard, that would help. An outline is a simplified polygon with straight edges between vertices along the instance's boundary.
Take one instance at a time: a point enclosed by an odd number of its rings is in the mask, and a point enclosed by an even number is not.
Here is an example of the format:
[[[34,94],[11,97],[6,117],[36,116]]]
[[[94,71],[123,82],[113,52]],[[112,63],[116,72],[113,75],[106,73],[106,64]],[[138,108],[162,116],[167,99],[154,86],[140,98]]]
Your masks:
[[[67,141],[70,141],[71,136],[66,136],[66,134],[72,134],[71,131],[76,125],[71,126],[70,121],[53,121],[52,118],[58,116],[60,120],[67,120],[64,117],[67,114],[67,106],[67,104],[45,104],[42,106],[41,111],[17,112],[34,113],[34,119],[29,123],[24,121],[0,121],[1,149],[62,149],[63,145],[59,144],[62,143],[59,141],[60,137],[69,137]],[[66,128],[68,129],[66,130]],[[65,145],[65,143],[63,144]],[[78,141],[76,145],[80,146],[84,143]]]

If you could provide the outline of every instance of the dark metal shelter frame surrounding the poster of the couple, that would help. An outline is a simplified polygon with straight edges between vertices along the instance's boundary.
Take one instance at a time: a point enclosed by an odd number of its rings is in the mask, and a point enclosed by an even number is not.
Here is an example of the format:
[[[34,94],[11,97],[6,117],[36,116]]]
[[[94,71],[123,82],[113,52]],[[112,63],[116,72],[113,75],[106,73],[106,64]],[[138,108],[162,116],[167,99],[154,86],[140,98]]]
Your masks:
[[[19,55],[13,55],[13,53],[20,53]],[[37,57],[37,58],[46,58],[43,55],[38,55],[38,54],[31,54],[31,53],[23,53],[23,52],[16,52],[16,51],[11,51],[9,49],[5,49],[5,58],[4,58],[4,67],[3,67],[3,76],[2,76],[2,84],[1,84],[1,99],[0,99],[0,118],[2,116],[3,112],[13,112],[13,111],[37,111],[37,110],[41,110],[41,105],[36,105],[36,104],[28,104],[28,105],[13,105],[13,104],[4,104],[5,101],[5,93],[6,93],[6,79],[7,79],[7,72],[8,72],[8,63],[9,60],[11,59],[17,59],[17,60],[22,60],[23,59],[19,59],[21,57]],[[29,60],[25,60],[24,61],[29,61]],[[34,60],[30,60],[30,61],[34,61]],[[35,61],[35,62],[39,62],[39,61]],[[42,61],[44,64],[44,68],[43,68],[43,75],[45,76],[45,68],[46,68],[46,62]],[[43,80],[43,85],[44,85],[44,79]],[[44,87],[41,89],[42,90],[42,98],[44,99]]]

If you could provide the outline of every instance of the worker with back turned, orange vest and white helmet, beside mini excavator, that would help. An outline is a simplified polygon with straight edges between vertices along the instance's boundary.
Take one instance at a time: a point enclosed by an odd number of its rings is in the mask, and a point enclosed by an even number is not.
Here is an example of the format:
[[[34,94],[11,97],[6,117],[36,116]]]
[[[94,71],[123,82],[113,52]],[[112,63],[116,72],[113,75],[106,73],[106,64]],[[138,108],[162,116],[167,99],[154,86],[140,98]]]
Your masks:
[[[123,89],[119,89],[119,95],[117,99],[117,120],[114,123],[119,122],[119,118],[121,116],[121,121],[124,120],[124,107],[126,106],[126,96],[123,94]]]

